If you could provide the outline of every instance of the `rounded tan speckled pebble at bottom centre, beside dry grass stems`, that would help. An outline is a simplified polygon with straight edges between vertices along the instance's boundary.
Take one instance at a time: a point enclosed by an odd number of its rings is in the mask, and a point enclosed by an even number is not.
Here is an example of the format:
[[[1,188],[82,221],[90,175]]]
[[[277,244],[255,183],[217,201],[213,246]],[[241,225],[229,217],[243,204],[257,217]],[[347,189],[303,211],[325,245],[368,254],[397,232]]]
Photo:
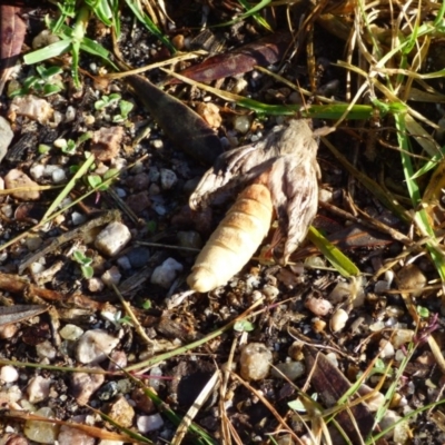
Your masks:
[[[239,356],[240,374],[246,380],[260,380],[269,374],[273,355],[261,343],[246,345]]]

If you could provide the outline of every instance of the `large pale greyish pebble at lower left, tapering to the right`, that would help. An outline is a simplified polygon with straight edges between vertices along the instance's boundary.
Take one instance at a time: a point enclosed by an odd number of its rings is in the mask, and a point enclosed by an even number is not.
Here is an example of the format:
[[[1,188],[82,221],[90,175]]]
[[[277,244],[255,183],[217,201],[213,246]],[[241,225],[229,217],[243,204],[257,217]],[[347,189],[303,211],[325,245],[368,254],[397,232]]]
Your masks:
[[[102,329],[87,330],[77,344],[76,356],[80,363],[98,364],[118,345],[119,339]]]

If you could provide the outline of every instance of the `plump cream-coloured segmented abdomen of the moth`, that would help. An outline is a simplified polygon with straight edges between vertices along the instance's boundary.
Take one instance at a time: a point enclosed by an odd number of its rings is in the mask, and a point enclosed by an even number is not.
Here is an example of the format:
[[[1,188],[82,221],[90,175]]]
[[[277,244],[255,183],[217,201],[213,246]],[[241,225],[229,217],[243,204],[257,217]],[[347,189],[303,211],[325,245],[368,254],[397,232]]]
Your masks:
[[[269,189],[247,186],[198,255],[187,278],[190,288],[212,290],[241,270],[269,231],[271,216]]]

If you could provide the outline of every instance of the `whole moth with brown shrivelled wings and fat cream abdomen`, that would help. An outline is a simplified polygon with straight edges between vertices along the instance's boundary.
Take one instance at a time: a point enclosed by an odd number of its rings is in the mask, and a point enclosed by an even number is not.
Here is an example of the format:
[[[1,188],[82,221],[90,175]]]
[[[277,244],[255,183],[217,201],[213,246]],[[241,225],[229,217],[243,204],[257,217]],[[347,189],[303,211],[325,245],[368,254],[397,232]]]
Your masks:
[[[273,209],[285,238],[280,263],[287,263],[317,214],[317,150],[318,134],[308,120],[290,119],[256,144],[217,158],[191,194],[190,207],[244,191],[198,255],[187,279],[191,289],[210,291],[241,270],[267,235]]]

